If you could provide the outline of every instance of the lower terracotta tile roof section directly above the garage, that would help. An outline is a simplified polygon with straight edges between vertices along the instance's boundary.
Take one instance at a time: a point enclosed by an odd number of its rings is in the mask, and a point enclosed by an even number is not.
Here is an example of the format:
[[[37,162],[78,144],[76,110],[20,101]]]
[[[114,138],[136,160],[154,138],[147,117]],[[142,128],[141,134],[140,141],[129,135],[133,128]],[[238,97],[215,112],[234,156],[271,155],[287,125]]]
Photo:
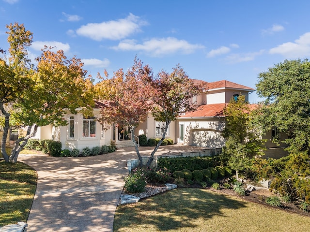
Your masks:
[[[226,103],[201,105],[197,111],[188,112],[185,115],[180,116],[180,118],[224,116],[223,109],[226,107],[226,105]]]

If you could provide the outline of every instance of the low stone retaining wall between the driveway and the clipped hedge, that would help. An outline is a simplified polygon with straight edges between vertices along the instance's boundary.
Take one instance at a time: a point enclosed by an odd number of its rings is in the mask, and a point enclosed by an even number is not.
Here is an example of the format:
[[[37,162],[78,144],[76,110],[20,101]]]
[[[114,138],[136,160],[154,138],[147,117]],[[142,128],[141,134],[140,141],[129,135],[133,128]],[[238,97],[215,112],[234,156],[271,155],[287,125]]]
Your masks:
[[[151,166],[157,167],[158,158],[178,158],[178,157],[197,157],[197,156],[215,156],[222,152],[222,148],[206,148],[203,151],[197,152],[181,152],[179,155],[167,155],[167,156],[154,156]],[[146,165],[149,160],[148,156],[142,156],[143,165]],[[131,172],[132,169],[139,167],[139,159],[127,160],[128,171]]]

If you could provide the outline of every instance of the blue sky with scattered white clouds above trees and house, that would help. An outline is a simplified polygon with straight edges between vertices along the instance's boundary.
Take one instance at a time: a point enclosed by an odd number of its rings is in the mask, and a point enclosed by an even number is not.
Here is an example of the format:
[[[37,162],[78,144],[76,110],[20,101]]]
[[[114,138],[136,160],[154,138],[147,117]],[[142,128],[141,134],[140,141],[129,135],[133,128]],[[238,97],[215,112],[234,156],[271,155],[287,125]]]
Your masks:
[[[192,79],[256,88],[259,73],[310,57],[309,10],[309,0],[0,0],[0,48],[18,22],[33,33],[32,60],[62,49],[95,82],[137,57],[154,74],[179,64]]]

